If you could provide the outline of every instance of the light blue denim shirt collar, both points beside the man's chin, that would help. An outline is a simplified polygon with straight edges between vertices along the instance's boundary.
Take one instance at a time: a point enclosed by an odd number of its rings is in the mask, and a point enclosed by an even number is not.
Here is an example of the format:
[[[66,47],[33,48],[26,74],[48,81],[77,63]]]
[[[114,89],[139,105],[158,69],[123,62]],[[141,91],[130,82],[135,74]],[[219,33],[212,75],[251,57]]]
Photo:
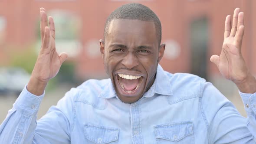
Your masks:
[[[166,95],[170,96],[172,95],[171,91],[171,84],[169,82],[169,78],[167,77],[166,73],[164,72],[164,69],[161,67],[161,65],[158,64],[157,68],[157,74],[156,79],[154,80],[153,85],[151,88],[149,88],[148,92],[145,92],[143,97],[150,98],[154,96],[154,94],[157,93],[159,95]],[[98,95],[99,98],[113,98],[117,97],[115,93],[115,88],[113,87],[113,84],[111,82],[111,79],[108,79],[108,82],[103,89],[102,93]]]

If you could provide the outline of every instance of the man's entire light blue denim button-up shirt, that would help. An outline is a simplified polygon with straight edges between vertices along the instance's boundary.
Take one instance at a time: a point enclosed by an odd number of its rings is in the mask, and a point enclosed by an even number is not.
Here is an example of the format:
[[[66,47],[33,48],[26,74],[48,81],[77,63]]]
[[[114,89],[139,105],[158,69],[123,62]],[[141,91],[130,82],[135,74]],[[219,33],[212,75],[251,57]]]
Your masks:
[[[255,144],[256,93],[240,92],[248,118],[211,83],[158,65],[143,98],[125,104],[110,79],[72,88],[36,121],[44,96],[24,88],[0,126],[1,144]]]

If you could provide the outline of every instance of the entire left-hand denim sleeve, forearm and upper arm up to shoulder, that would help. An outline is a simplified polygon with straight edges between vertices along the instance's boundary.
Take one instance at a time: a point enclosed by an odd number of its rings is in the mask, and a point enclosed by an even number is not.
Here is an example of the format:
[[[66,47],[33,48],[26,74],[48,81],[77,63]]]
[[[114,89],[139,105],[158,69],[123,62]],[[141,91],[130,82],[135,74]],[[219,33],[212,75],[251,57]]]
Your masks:
[[[49,108],[46,115],[36,121],[44,94],[33,95],[25,87],[0,125],[0,143],[69,144],[74,91],[75,88],[67,92],[56,106]]]

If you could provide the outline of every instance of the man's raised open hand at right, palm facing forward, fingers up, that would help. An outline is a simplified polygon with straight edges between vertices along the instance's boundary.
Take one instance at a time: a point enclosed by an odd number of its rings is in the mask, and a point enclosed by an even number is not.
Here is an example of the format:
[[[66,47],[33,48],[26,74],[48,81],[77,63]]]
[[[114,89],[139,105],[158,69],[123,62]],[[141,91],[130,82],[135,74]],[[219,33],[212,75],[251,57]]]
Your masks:
[[[224,42],[220,56],[213,55],[210,61],[216,64],[220,73],[226,79],[233,81],[241,92],[249,93],[255,91],[256,85],[255,79],[247,69],[241,53],[243,33],[244,14],[240,12],[239,8],[236,8],[233,14],[232,26],[231,16],[226,16]],[[250,90],[248,89],[248,84],[251,87],[249,88]],[[253,88],[254,86],[255,88]]]

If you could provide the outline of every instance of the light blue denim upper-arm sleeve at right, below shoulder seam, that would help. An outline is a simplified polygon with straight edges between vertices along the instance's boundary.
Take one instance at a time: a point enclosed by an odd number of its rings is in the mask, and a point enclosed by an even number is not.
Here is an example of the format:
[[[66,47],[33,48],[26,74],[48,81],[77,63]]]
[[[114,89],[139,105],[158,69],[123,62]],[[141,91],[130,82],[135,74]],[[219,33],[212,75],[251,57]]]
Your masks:
[[[209,144],[255,144],[255,130],[249,130],[248,119],[210,82],[204,85],[201,105]]]

